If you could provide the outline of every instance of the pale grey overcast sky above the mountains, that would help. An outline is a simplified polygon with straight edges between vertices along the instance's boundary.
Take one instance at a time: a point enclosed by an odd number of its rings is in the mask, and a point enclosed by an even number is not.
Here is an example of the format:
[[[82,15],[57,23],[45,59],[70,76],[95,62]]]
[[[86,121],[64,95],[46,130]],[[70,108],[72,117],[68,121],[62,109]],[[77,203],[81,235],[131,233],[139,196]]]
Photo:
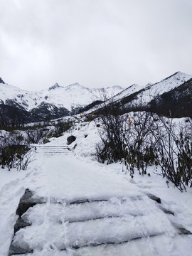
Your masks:
[[[192,74],[192,0],[0,0],[0,77],[26,90]]]

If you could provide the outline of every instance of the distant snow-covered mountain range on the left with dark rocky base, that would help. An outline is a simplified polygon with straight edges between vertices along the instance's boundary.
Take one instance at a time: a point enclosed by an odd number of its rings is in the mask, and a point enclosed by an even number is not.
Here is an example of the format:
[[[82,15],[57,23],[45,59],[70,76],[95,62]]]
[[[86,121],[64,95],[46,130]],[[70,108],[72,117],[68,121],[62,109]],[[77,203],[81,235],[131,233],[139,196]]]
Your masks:
[[[82,107],[100,99],[103,89],[90,89],[78,82],[60,86],[56,82],[46,90],[31,92],[22,90],[13,85],[0,81],[0,105],[16,107],[19,110],[30,112],[35,119],[54,119],[68,114],[75,114]],[[119,86],[108,87],[107,94],[116,94],[124,88]],[[4,106],[1,106],[4,107]]]

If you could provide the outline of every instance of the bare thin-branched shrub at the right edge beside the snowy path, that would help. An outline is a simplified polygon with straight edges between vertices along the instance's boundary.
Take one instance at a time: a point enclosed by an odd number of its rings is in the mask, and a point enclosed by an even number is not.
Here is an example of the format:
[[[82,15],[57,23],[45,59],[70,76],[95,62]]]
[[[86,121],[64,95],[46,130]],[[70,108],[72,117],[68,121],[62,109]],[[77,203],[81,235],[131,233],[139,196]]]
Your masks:
[[[192,186],[192,142],[181,125],[159,117],[153,131],[162,176],[180,190]]]

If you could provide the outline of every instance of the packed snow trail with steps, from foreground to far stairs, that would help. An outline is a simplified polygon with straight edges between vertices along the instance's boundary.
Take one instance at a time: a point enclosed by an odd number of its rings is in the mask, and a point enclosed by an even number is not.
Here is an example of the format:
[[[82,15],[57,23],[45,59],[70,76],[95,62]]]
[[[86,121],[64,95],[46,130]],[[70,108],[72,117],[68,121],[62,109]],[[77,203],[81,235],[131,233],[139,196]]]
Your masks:
[[[191,255],[191,236],[179,235],[173,215],[68,146],[37,146],[23,182],[31,204],[21,212],[25,227],[16,230],[9,255],[181,256],[183,247]]]

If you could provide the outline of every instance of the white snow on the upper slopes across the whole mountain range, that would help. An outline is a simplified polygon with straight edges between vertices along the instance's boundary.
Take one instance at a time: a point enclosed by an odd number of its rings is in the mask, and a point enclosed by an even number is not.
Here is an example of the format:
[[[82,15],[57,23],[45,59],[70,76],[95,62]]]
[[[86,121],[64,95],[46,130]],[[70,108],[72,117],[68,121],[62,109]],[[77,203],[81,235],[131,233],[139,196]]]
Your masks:
[[[144,92],[139,94],[139,98],[131,104],[139,104],[141,102],[140,96],[142,97],[143,103],[148,103],[154,95],[161,95],[164,92],[168,92],[191,78],[192,75],[177,72],[169,78],[156,82],[154,85],[148,84],[142,87],[134,84],[126,89],[115,85],[105,88],[105,92],[107,97],[114,97],[114,100],[120,100],[145,88]],[[31,110],[41,105],[42,102],[45,102],[56,107],[65,107],[70,111],[75,107],[88,105],[95,100],[102,100],[102,90],[103,88],[91,89],[76,82],[68,86],[60,86],[58,83],[55,83],[55,85],[46,90],[31,92],[13,85],[0,83],[0,103],[4,102],[6,104],[6,100],[13,100],[25,110]]]

